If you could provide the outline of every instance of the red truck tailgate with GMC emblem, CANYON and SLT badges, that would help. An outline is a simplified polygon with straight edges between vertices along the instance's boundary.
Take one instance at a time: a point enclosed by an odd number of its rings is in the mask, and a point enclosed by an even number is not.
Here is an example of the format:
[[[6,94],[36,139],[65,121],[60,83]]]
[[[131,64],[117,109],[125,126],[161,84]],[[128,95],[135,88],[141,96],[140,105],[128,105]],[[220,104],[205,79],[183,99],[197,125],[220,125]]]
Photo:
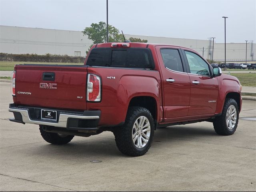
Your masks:
[[[17,105],[86,110],[86,66],[16,65]]]

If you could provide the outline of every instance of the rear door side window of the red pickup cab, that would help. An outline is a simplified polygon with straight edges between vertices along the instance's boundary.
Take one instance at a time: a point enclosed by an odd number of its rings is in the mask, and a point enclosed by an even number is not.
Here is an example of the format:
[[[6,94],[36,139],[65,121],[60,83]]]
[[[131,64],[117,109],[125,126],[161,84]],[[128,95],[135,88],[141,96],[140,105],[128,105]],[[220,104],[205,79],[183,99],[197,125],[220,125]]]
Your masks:
[[[160,52],[166,68],[174,71],[184,72],[180,54],[177,49],[161,49]]]

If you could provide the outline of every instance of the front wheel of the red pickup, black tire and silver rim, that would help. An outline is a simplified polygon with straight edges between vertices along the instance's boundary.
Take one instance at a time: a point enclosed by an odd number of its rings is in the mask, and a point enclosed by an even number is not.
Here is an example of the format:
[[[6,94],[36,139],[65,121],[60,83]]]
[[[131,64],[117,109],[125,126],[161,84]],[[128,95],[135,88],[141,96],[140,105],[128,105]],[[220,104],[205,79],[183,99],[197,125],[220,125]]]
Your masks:
[[[236,100],[227,98],[222,115],[215,118],[214,130],[219,135],[232,135],[236,131],[239,119],[239,110]]]

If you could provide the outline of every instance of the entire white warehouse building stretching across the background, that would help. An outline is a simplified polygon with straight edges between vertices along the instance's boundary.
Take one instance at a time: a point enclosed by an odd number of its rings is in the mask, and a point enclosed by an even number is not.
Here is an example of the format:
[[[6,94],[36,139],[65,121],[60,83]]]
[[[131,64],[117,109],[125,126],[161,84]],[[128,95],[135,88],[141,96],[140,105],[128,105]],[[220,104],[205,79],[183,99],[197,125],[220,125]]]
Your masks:
[[[206,59],[212,59],[212,41],[182,38],[167,38],[153,36],[130,37],[146,39],[148,43],[171,44],[196,50]],[[86,51],[92,44],[88,36],[81,31],[55,30],[43,28],[26,28],[15,26],[0,26],[0,52],[12,54],[60,54],[68,56],[86,56]],[[204,52],[203,52],[204,51]],[[245,61],[246,44],[226,44],[227,61]],[[214,60],[224,61],[224,44],[214,43]],[[247,60],[256,60],[256,44],[247,44]]]

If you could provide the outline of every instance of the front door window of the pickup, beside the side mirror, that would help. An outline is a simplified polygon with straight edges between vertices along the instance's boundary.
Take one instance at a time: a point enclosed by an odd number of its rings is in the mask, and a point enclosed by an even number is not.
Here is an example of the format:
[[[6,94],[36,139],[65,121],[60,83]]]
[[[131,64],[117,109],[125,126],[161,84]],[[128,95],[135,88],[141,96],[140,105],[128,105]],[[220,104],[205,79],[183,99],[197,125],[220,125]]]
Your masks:
[[[190,73],[210,76],[209,66],[200,56],[189,51],[185,51],[185,54],[188,59]]]

